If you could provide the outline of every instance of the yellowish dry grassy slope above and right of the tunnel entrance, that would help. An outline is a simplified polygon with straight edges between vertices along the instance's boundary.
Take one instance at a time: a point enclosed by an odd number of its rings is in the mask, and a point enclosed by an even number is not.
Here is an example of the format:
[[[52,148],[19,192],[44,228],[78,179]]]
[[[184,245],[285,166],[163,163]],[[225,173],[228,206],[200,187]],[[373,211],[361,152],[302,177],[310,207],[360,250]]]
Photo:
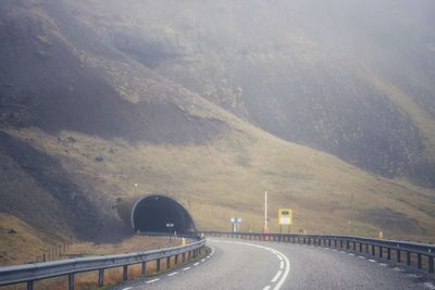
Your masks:
[[[359,235],[383,230],[386,237],[435,238],[433,191],[370,175],[249,125],[210,144],[184,147],[132,144],[63,131],[61,140],[76,140],[67,143],[38,129],[8,131],[34,139],[37,148],[62,160],[83,187],[107,192],[113,201],[149,192],[174,196],[200,228],[226,229],[228,218],[239,215],[244,230],[260,230],[262,192],[268,190],[272,230],[277,230],[277,209],[293,207],[295,231],[346,234],[353,219]],[[104,161],[95,162],[97,155]],[[393,210],[393,216],[385,209]],[[371,218],[373,210],[381,219]]]

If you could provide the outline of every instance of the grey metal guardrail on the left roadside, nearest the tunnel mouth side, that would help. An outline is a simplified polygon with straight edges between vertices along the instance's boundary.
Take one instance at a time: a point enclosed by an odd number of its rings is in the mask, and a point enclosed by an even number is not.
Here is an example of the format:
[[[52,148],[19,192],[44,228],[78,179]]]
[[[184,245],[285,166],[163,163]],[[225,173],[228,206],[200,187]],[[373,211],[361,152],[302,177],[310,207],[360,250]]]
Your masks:
[[[74,275],[77,273],[98,270],[98,286],[102,287],[104,283],[104,269],[123,267],[123,280],[128,278],[128,266],[141,264],[141,275],[146,275],[147,262],[156,261],[157,272],[160,270],[160,260],[166,257],[166,267],[170,267],[169,262],[172,256],[175,256],[175,264],[178,263],[178,255],[182,255],[182,262],[201,254],[206,245],[206,240],[194,239],[195,242],[181,245],[166,248],[161,250],[153,250],[138,253],[104,255],[104,256],[90,256],[77,257],[70,260],[61,260],[54,262],[44,262],[35,264],[26,264],[18,266],[0,267],[0,286],[27,283],[27,290],[34,289],[36,280],[47,278],[54,278],[59,276],[69,276],[69,289],[74,289]]]

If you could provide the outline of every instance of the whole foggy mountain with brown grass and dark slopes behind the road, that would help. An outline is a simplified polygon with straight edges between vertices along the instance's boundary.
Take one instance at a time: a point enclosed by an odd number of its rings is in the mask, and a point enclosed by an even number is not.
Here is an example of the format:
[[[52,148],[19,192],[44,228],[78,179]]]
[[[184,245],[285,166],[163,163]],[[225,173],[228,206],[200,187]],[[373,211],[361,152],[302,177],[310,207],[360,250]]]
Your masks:
[[[260,230],[268,190],[294,231],[433,239],[433,4],[326,2],[3,1],[0,261],[121,239],[150,192],[200,228]]]

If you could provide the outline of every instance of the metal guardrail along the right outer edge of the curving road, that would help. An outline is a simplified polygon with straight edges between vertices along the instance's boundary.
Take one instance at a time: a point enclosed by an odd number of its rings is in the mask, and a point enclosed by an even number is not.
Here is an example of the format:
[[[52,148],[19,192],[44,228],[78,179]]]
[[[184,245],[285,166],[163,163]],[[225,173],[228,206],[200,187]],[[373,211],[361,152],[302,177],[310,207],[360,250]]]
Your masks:
[[[386,259],[388,261],[391,261],[393,255],[395,255],[395,261],[397,263],[406,263],[406,265],[408,266],[417,266],[417,268],[420,270],[423,270],[423,262],[426,262],[424,263],[424,266],[427,274],[434,274],[435,244],[430,243],[332,235],[286,235],[223,231],[202,231],[199,234],[209,237],[279,241],[288,243],[312,244],[319,247],[323,245],[328,248],[365,253],[372,256],[378,256],[380,259]]]

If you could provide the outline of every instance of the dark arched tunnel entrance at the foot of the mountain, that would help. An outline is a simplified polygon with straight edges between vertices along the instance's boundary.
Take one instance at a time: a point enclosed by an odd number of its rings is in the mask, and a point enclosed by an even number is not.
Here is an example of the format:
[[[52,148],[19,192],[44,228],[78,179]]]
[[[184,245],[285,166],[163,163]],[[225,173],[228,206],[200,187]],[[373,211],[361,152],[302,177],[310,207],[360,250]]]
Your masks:
[[[132,227],[140,232],[185,234],[196,230],[190,214],[177,201],[165,196],[148,196],[132,209]]]

